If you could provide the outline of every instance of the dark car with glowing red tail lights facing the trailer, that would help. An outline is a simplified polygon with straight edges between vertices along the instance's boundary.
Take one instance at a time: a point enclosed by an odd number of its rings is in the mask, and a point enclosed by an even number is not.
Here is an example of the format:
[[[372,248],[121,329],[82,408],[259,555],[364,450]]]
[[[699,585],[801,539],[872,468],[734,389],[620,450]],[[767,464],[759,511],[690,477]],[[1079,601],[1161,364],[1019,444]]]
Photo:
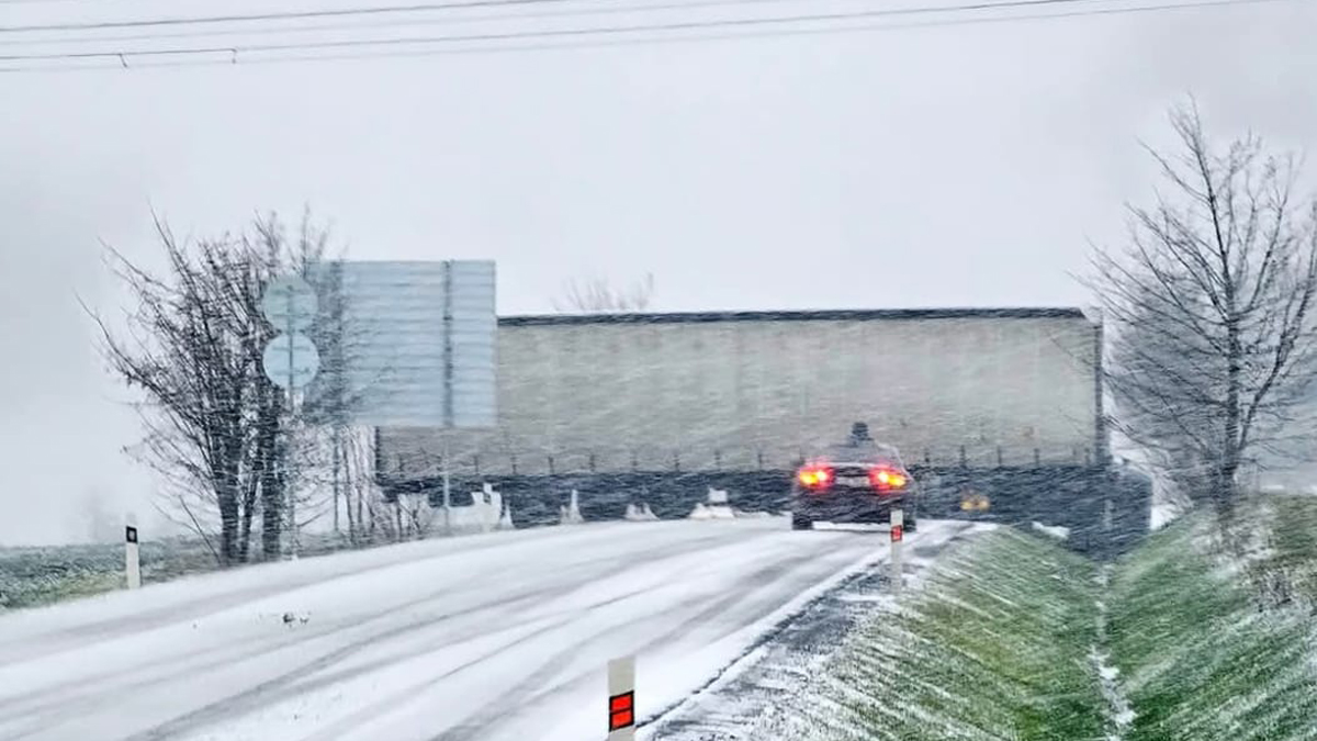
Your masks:
[[[915,529],[918,485],[901,452],[874,442],[863,422],[839,446],[807,458],[792,483],[792,529],[815,522],[888,523],[901,509],[905,530]]]

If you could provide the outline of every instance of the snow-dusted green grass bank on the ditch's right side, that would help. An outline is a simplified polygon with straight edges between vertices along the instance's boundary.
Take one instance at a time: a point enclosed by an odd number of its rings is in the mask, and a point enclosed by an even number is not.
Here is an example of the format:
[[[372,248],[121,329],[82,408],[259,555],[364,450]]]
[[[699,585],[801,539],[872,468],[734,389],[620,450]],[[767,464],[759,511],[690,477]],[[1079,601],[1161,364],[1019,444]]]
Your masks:
[[[1313,533],[1274,522],[1268,558],[1310,568]],[[1202,552],[1205,526],[1184,518],[1114,570],[1110,651],[1137,713],[1125,741],[1317,738],[1310,617],[1259,609],[1242,574]]]

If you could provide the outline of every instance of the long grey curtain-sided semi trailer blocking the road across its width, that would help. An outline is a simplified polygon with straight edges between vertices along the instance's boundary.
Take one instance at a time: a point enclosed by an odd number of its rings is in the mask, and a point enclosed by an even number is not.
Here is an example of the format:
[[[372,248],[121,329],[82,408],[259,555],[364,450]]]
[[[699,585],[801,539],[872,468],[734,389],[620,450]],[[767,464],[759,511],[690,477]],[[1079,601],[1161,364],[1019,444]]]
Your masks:
[[[1113,465],[1102,326],[1080,309],[503,316],[497,425],[378,427],[387,496],[494,484],[519,523],[628,504],[685,517],[709,488],[784,512],[811,450],[856,422],[894,446],[921,517],[1036,521],[1080,550],[1147,530],[1150,483]]]

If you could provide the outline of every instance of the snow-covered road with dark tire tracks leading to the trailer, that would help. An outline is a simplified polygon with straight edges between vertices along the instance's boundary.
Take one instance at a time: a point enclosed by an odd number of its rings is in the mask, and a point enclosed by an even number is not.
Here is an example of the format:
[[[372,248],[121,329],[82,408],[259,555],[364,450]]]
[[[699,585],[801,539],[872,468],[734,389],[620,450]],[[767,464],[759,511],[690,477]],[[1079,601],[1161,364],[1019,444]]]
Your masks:
[[[910,543],[961,526],[925,522]],[[652,716],[886,552],[882,535],[780,518],[619,522],[21,612],[0,617],[0,738],[598,740],[610,658],[639,655],[639,716]]]

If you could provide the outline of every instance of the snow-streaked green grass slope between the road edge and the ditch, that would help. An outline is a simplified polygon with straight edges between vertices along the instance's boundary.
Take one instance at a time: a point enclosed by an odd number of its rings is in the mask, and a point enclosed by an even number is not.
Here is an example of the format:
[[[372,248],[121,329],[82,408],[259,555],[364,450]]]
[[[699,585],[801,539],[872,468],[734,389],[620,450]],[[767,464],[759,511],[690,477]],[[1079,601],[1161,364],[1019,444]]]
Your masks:
[[[828,662],[784,738],[1105,740],[1090,662],[1097,567],[1001,529],[947,554],[923,591]]]

